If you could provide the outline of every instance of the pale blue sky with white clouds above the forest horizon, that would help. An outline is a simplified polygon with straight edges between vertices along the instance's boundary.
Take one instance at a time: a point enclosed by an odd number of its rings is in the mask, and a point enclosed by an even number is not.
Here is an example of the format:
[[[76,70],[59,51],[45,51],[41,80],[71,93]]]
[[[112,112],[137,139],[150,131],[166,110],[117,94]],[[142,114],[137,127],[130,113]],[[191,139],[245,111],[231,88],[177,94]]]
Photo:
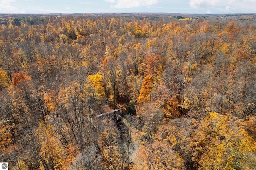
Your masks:
[[[256,13],[256,0],[0,0],[0,13]]]

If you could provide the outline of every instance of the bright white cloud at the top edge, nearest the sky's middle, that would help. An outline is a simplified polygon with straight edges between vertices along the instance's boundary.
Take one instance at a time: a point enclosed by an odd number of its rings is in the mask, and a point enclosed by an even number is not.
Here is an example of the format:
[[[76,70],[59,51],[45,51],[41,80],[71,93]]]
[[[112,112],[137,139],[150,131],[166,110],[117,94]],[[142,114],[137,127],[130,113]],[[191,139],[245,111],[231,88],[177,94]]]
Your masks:
[[[134,8],[155,5],[159,0],[106,0],[106,2],[116,3],[111,6],[114,8]]]

